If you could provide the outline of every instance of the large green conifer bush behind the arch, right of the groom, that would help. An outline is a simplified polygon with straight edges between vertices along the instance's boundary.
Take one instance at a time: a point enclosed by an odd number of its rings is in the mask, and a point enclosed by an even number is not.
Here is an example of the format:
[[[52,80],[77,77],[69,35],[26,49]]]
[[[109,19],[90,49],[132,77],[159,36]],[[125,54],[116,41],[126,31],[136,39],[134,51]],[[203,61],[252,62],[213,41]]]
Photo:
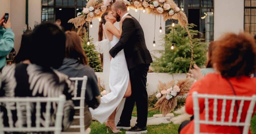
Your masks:
[[[194,35],[199,34],[197,30],[192,30],[196,25],[188,24],[193,46],[194,46],[194,61],[199,67],[205,65],[207,44],[201,42],[203,39],[194,38]],[[168,73],[186,73],[189,70],[191,59],[191,48],[188,33],[185,28],[176,25],[174,28],[169,26],[171,31],[163,36],[163,43],[161,46],[163,50],[155,50],[155,52],[162,54],[161,57],[153,56],[154,62],[152,67],[155,72],[168,72]],[[174,50],[171,50],[172,43],[174,43]]]

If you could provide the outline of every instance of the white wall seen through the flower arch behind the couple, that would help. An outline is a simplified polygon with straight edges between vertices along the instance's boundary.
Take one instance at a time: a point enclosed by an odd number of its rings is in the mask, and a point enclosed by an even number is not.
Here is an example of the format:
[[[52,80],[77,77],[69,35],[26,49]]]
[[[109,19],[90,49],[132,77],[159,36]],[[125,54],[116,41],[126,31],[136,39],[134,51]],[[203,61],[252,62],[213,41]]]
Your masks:
[[[130,9],[128,11],[134,18],[138,20],[140,10],[138,12],[135,12],[135,10]],[[90,28],[90,35],[94,39],[93,42],[98,41],[98,30],[99,30],[99,20],[94,19],[92,20],[93,27]],[[160,16],[156,17],[156,36],[155,36],[155,41],[156,41],[156,47],[153,47],[153,40],[154,40],[154,26],[155,26],[155,16],[147,13],[143,13],[141,10],[141,15],[140,15],[140,24],[143,28],[144,31],[144,36],[146,40],[146,45],[148,50],[150,51],[151,54],[153,54],[153,50],[156,49],[162,49],[159,45],[163,43],[161,38],[159,37],[160,35],[163,35],[165,33],[165,21],[163,21],[162,18],[162,33],[159,33],[159,27],[160,27]],[[116,22],[114,24],[118,29],[119,29],[119,22]],[[156,54],[156,56],[159,56],[159,54]]]

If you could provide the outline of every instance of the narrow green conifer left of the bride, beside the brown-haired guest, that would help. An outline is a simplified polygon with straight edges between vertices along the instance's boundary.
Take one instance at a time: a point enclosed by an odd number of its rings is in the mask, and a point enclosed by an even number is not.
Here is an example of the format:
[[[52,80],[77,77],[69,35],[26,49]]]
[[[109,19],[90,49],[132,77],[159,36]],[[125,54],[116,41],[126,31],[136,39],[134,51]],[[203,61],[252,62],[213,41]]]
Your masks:
[[[85,33],[83,38],[83,49],[88,58],[88,65],[95,71],[95,72],[102,72],[101,61],[99,57],[99,53],[96,52],[95,46],[93,45],[93,39],[90,37],[90,45],[87,45],[88,41],[88,33]]]

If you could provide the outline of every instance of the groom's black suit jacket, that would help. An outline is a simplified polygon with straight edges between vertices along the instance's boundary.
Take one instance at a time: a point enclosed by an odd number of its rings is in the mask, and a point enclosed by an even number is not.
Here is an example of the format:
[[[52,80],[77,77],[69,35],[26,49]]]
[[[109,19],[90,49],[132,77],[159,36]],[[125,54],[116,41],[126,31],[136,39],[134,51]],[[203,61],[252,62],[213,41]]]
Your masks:
[[[152,63],[153,60],[147,49],[140,23],[134,17],[126,18],[123,21],[122,30],[119,42],[109,51],[110,55],[114,58],[116,54],[124,49],[128,69],[140,64]]]

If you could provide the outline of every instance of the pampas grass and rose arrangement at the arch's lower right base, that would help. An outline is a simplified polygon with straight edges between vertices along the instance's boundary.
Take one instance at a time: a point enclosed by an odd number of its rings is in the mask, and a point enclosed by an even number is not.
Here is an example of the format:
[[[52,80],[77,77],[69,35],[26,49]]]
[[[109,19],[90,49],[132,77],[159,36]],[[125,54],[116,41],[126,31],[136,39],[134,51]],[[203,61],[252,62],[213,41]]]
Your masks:
[[[155,107],[166,116],[172,112],[177,106],[177,97],[183,98],[186,93],[189,92],[194,79],[186,78],[183,80],[172,80],[167,83],[159,81],[157,86],[159,93],[156,94],[158,101]]]

